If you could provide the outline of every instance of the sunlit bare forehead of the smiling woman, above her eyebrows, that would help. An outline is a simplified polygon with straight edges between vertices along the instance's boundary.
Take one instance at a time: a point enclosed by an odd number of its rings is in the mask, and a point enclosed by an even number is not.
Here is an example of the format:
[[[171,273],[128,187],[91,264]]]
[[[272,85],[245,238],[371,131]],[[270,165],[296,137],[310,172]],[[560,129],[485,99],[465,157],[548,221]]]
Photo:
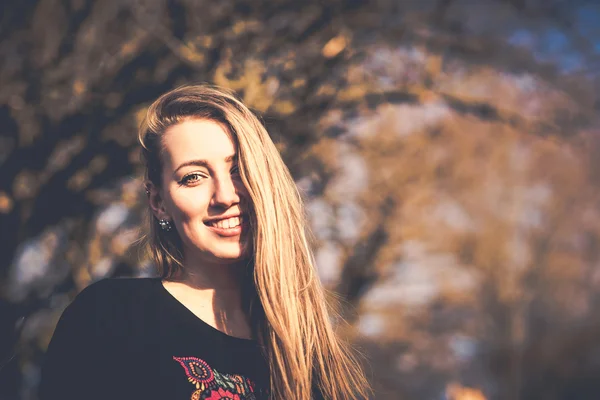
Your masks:
[[[190,160],[222,161],[236,146],[227,128],[207,119],[186,119],[169,127],[162,138],[165,162],[173,166]]]

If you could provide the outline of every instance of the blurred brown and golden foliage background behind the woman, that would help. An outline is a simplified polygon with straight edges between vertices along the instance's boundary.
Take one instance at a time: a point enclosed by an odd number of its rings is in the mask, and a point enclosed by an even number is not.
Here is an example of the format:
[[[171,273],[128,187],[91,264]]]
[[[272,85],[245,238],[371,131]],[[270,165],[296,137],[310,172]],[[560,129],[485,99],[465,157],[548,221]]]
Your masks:
[[[211,82],[305,195],[376,399],[599,399],[599,70],[597,1],[3,2],[0,398],[82,288],[154,273],[136,129]]]

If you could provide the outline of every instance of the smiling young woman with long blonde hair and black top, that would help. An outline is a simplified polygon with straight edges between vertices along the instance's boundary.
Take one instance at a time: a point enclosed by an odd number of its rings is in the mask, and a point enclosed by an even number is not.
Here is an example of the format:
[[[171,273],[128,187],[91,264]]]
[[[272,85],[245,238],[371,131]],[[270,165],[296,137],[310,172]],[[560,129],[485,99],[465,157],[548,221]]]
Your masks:
[[[187,86],[139,133],[161,277],[82,291],[56,328],[42,399],[364,399],[334,333],[301,198],[231,93]]]

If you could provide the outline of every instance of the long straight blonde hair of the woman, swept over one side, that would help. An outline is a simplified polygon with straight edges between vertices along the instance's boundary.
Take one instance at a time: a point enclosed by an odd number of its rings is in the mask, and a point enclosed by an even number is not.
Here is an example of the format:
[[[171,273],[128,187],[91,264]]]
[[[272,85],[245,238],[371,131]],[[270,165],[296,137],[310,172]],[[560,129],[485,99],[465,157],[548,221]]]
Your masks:
[[[266,129],[233,93],[195,85],[159,97],[139,131],[147,179],[160,186],[161,135],[187,118],[224,124],[237,146],[253,208],[246,295],[255,304],[249,312],[269,363],[271,397],[308,400],[318,388],[326,399],[368,398],[369,385],[353,351],[332,327],[295,182]],[[156,222],[150,226],[150,251],[161,275],[172,277],[183,268],[181,239],[162,232]]]

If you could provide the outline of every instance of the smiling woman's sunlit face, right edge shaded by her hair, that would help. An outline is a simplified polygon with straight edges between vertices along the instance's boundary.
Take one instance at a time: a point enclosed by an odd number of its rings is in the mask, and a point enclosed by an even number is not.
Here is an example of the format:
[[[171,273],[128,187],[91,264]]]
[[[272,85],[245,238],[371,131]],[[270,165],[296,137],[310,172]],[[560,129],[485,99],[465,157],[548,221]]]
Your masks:
[[[248,193],[226,128],[188,119],[163,136],[162,188],[152,208],[175,225],[185,259],[230,264],[250,250]]]

